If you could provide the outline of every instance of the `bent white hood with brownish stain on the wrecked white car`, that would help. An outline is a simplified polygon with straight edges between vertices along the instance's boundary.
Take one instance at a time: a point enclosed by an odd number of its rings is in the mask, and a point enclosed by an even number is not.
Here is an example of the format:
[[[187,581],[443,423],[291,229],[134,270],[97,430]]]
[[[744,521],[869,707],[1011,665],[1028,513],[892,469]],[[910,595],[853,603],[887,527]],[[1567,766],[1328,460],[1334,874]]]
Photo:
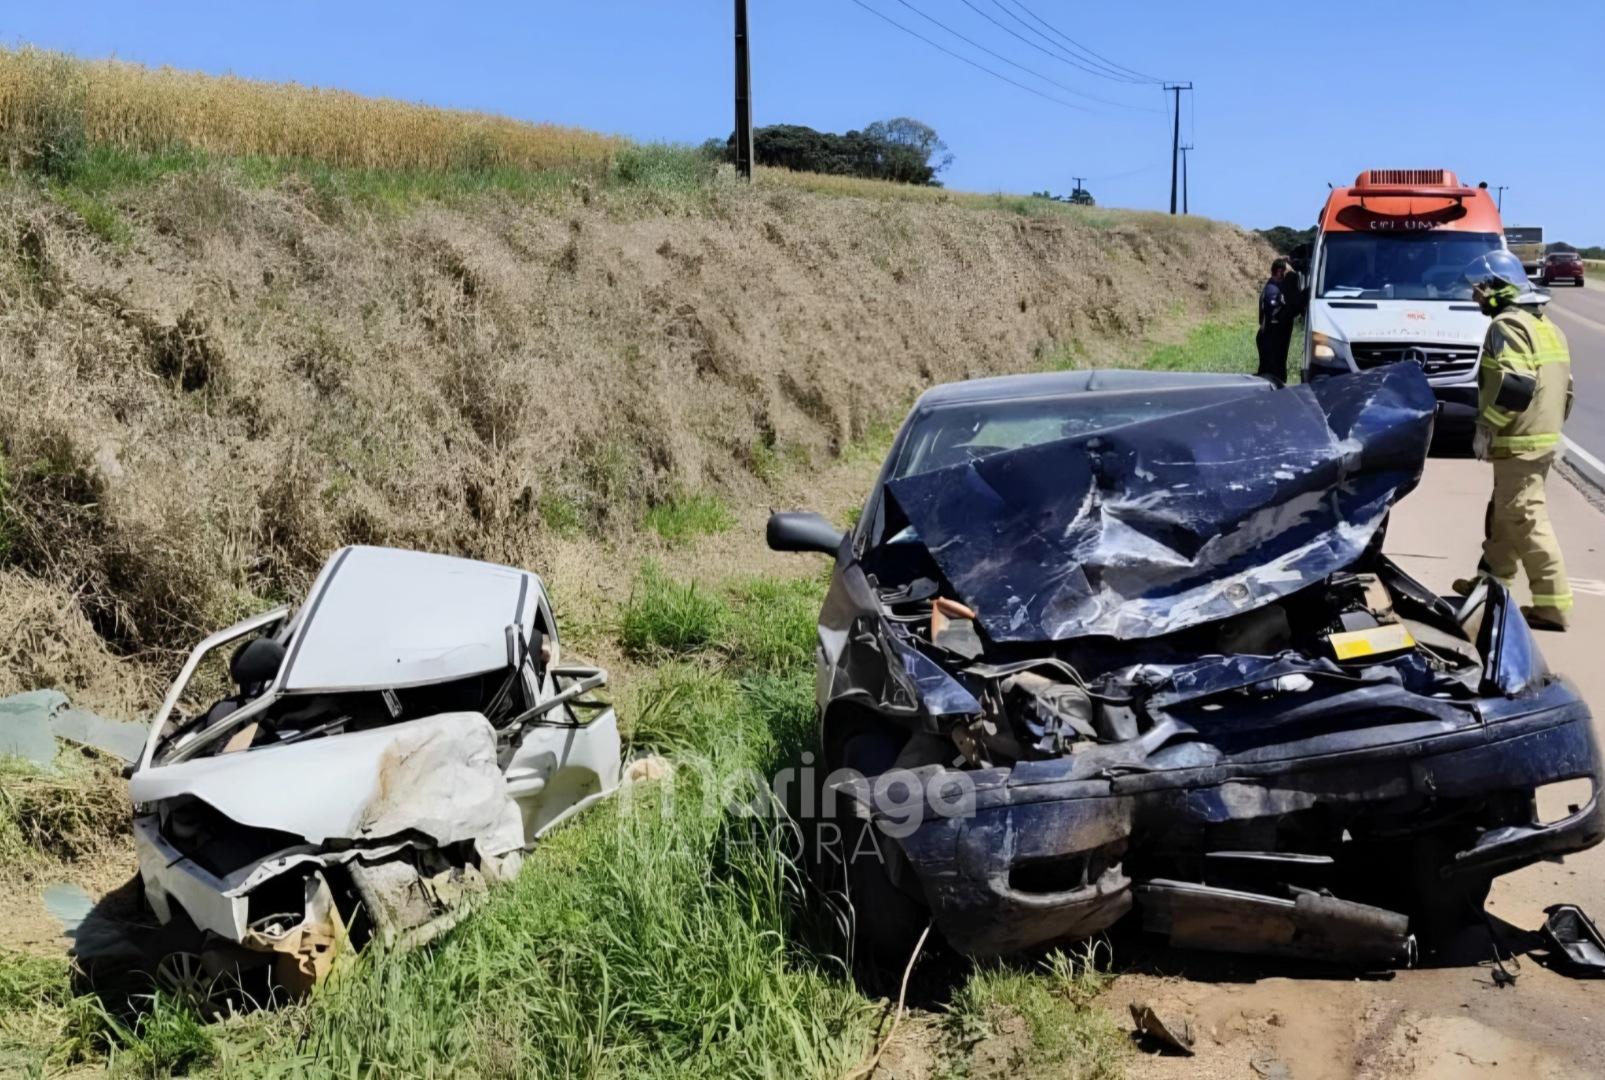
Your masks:
[[[143,769],[128,794],[135,804],[193,796],[241,825],[311,844],[422,833],[438,846],[475,841],[482,855],[523,846],[496,732],[478,713]]]

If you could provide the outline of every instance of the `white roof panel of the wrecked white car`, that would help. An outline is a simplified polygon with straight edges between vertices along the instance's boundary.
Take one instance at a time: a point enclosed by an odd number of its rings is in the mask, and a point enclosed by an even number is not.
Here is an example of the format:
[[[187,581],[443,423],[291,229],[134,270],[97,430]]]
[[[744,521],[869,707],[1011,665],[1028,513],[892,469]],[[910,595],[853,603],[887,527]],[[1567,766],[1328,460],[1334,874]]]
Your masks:
[[[541,579],[393,547],[342,547],[295,615],[291,693],[449,682],[509,666],[507,627],[533,640]]]

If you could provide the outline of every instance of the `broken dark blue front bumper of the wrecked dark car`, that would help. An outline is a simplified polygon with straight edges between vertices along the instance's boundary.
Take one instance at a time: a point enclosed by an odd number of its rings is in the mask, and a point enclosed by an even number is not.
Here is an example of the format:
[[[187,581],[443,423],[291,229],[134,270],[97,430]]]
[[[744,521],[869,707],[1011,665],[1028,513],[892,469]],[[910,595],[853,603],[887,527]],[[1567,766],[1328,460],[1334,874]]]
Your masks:
[[[1323,897],[1385,886],[1366,879],[1371,855],[1427,834],[1456,841],[1420,849],[1441,852],[1430,873],[1444,887],[1605,836],[1599,745],[1587,708],[1563,680],[1522,698],[1483,700],[1477,709],[1375,704],[1379,717],[1395,722],[1221,754],[1209,732],[1167,721],[1124,764],[1093,753],[973,770],[973,807],[926,814],[913,828],[888,785],[847,783],[841,794],[894,838],[891,851],[881,841],[894,881],[923,894],[947,940],[976,956],[1085,937],[1144,900],[1152,907],[1144,924],[1172,932],[1176,910],[1202,918],[1220,908],[1220,894],[1241,892],[1221,883],[1239,881],[1233,871],[1242,867],[1281,891],[1258,899],[1297,903],[1310,891],[1300,883]],[[915,772],[926,791],[942,790],[952,775]],[[1578,778],[1591,782],[1587,801],[1541,823],[1533,793]],[[1512,809],[1523,806],[1525,814]],[[1374,865],[1369,876],[1377,876]],[[1372,921],[1382,934],[1377,955],[1361,948],[1350,958],[1408,952],[1396,924]]]

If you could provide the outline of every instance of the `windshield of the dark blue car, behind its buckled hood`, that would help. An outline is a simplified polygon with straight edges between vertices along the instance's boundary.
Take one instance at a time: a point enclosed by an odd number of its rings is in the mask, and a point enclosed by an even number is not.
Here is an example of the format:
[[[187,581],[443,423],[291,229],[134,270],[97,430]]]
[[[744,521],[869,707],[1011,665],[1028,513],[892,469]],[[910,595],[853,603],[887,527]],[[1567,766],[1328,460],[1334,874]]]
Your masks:
[[[891,478],[912,477],[1006,449],[1101,432],[1201,409],[1265,390],[1268,384],[1168,390],[1095,390],[1048,398],[957,401],[923,411],[904,440]]]

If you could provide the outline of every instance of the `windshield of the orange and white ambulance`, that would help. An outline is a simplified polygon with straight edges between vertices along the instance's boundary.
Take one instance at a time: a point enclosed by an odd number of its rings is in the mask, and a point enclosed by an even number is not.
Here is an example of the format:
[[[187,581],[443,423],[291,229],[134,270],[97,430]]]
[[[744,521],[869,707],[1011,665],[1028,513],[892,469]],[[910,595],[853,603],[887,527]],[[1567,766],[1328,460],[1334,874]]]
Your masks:
[[[1499,250],[1494,233],[1334,233],[1316,295],[1355,300],[1470,300],[1465,266]]]

